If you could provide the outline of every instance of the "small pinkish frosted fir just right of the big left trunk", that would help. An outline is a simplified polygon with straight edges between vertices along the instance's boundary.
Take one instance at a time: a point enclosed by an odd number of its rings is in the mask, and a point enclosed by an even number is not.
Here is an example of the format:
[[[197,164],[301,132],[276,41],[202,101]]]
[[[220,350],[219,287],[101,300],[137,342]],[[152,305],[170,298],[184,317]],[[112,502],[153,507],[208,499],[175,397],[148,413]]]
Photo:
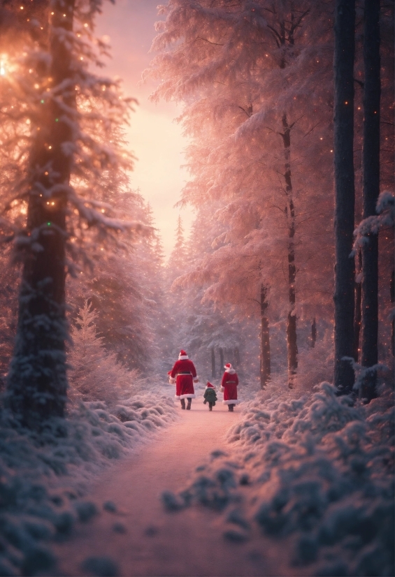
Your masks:
[[[85,300],[71,328],[69,397],[72,402],[98,400],[113,407],[122,398],[143,390],[145,379],[138,370],[127,370],[115,353],[104,349],[103,337],[96,333],[97,317],[98,313]]]

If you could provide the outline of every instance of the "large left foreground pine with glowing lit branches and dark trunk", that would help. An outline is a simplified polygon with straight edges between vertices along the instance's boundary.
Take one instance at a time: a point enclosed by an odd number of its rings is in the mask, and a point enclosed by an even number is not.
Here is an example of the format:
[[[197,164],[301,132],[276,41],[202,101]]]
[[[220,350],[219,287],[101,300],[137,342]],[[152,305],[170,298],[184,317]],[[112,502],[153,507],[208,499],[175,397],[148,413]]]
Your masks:
[[[101,1],[45,3],[41,21],[31,22],[36,37],[6,54],[8,74],[1,78],[3,156],[13,176],[3,205],[27,210],[26,226],[9,225],[24,264],[6,400],[29,426],[64,414],[66,244],[72,247],[78,228],[96,225],[103,234],[123,228],[96,209],[84,187],[106,166],[130,163],[120,147],[95,138],[99,126],[123,122],[130,104],[117,83],[88,69],[108,51],[92,38],[100,10]]]

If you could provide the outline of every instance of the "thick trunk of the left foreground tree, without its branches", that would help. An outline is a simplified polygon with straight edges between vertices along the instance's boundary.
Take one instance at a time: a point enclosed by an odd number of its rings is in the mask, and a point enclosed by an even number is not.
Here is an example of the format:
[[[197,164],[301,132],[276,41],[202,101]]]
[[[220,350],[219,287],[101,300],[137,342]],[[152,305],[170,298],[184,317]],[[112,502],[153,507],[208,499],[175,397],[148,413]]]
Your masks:
[[[64,416],[66,402],[65,240],[66,203],[73,142],[76,91],[71,48],[75,0],[52,4],[51,64],[45,79],[59,87],[58,101],[48,96],[34,127],[29,160],[29,203],[17,337],[8,377],[7,402],[29,427],[50,416]],[[43,89],[44,91],[44,89]]]

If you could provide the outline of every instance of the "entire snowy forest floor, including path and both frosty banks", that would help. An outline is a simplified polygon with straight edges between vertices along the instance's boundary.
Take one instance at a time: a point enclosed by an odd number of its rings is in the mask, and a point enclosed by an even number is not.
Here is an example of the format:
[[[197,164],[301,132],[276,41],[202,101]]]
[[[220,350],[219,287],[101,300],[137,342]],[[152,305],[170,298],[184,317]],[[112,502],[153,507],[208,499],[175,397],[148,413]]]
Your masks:
[[[391,390],[196,393],[85,404],[45,444],[3,418],[0,575],[393,575]]]

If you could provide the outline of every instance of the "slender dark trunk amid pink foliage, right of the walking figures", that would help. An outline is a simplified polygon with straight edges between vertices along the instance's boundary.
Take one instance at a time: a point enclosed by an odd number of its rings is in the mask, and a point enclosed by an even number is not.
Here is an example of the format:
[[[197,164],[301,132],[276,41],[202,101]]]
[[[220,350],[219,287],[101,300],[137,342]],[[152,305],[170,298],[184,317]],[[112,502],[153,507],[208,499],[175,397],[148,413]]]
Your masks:
[[[287,193],[287,217],[288,217],[288,285],[289,285],[289,312],[287,318],[287,349],[288,349],[288,386],[293,388],[294,377],[298,368],[298,344],[296,339],[296,265],[295,265],[295,207],[291,178],[291,129],[287,115],[282,115],[281,134],[284,143],[285,155],[285,192]]]

